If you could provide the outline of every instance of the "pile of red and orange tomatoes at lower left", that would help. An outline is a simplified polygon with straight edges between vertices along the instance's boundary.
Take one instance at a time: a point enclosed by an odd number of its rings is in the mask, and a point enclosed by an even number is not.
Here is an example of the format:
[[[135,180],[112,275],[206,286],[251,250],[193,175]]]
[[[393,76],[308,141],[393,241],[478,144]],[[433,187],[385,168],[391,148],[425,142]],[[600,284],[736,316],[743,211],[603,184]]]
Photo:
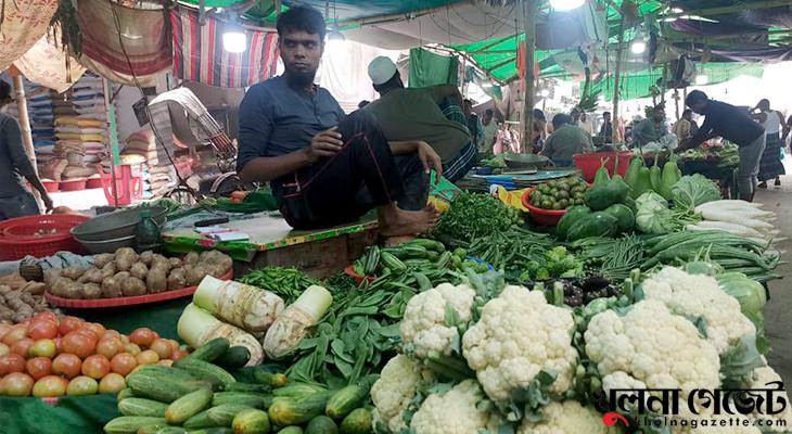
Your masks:
[[[0,324],[0,395],[118,393],[138,366],[169,366],[187,355],[178,342],[146,328],[127,336],[98,322],[41,312]]]

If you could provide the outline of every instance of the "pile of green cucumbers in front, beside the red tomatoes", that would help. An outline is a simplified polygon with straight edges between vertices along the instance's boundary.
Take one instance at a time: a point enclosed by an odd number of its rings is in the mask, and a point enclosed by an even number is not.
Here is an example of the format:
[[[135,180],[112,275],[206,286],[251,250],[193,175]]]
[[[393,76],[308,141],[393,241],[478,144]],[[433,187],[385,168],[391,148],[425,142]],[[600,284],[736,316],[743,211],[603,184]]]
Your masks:
[[[173,367],[146,365],[127,376],[118,394],[122,417],[106,434],[368,434],[368,384],[338,391],[286,382],[282,373],[253,368],[253,383],[229,372],[247,361],[218,337]],[[222,366],[220,366],[222,365]]]

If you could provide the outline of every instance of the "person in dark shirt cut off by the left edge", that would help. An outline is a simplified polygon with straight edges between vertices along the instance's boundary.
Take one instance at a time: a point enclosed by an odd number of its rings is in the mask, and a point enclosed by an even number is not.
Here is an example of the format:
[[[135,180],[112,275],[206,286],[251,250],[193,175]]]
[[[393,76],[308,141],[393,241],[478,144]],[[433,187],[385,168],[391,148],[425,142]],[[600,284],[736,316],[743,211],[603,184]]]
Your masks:
[[[11,85],[0,81],[0,108],[10,102]],[[20,124],[0,113],[0,220],[40,213],[36,197],[25,189],[23,178],[41,194],[47,212],[51,212],[52,200],[25,153]]]

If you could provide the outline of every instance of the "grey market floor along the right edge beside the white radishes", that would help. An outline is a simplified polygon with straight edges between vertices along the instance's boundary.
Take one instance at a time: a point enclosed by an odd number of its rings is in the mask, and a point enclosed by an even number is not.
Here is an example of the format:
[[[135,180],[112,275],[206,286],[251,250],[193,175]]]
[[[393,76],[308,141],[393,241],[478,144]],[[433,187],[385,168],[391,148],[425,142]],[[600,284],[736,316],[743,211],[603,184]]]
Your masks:
[[[787,163],[787,173],[792,174],[792,165]],[[756,193],[755,200],[778,215],[776,226],[781,231],[780,237],[788,238],[778,244],[778,248],[787,251],[782,260],[792,261],[792,176],[781,177],[781,183],[779,189],[770,182],[767,190],[761,189]],[[765,329],[772,345],[768,361],[784,384],[792,384],[792,264],[781,264],[776,271],[783,279],[770,282],[771,299],[765,307]]]

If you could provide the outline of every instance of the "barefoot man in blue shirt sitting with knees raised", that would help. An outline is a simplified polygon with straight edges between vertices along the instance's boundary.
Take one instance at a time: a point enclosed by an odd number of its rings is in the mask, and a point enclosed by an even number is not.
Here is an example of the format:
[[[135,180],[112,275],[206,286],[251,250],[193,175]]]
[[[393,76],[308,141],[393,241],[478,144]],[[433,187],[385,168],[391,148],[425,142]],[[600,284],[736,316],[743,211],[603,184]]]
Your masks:
[[[391,242],[430,229],[429,171],[442,173],[427,144],[389,142],[373,116],[345,116],[314,85],[324,51],[322,15],[294,7],[278,18],[282,76],[253,86],[240,106],[238,173],[244,182],[271,182],[283,217],[296,229],[357,221],[376,208]]]

